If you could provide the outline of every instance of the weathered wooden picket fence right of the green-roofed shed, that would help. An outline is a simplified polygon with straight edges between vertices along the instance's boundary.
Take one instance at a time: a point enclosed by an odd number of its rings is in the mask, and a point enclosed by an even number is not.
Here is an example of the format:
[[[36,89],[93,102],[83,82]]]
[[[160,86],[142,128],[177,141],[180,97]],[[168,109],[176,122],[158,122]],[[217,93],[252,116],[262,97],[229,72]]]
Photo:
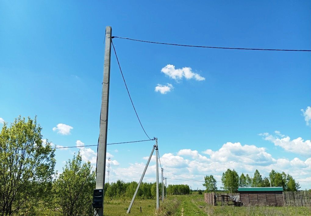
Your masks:
[[[284,206],[311,206],[311,192],[283,191]]]

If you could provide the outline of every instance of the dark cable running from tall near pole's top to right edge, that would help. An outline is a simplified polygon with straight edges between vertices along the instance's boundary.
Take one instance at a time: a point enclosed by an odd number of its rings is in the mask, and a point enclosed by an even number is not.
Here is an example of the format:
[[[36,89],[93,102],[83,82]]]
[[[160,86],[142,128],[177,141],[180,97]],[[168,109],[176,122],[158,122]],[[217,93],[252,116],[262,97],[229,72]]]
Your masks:
[[[164,44],[164,45],[174,45],[174,46],[186,46],[186,47],[198,47],[198,48],[214,48],[214,49],[244,49],[244,50],[266,50],[266,51],[303,51],[303,52],[310,52],[309,49],[255,49],[255,48],[235,48],[235,47],[216,47],[216,46],[196,46],[196,45],[183,45],[183,44],[170,44],[170,43],[161,43],[161,42],[154,42],[154,41],[147,41],[147,40],[137,40],[132,38],[126,37],[117,37],[113,36],[112,38],[121,38],[127,40],[134,40],[139,42],[151,43],[151,44]]]

